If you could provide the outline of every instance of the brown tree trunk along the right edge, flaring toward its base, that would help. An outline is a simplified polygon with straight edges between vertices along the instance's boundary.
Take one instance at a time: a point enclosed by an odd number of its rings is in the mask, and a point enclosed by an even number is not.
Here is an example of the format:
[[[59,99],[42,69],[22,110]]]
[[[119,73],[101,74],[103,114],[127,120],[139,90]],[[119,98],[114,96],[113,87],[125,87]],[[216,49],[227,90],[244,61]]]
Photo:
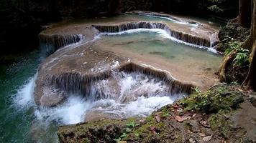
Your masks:
[[[248,87],[256,91],[256,0],[254,0],[253,4],[253,13],[252,13],[252,26],[251,26],[251,33],[250,36],[248,37],[249,40],[246,42],[249,43],[251,42],[251,54],[250,54],[250,69],[249,73],[247,74],[246,79],[244,80],[244,83],[242,86]],[[248,46],[250,44],[247,44],[244,42],[244,46]],[[244,48],[249,48],[249,47],[244,47]]]

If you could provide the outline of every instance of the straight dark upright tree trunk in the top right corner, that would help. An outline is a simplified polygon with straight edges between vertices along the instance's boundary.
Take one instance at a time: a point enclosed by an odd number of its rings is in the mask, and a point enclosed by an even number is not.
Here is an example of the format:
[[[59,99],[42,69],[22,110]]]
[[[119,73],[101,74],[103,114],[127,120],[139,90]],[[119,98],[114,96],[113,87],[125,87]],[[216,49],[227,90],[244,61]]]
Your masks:
[[[251,24],[251,0],[239,0],[239,23],[250,28]]]

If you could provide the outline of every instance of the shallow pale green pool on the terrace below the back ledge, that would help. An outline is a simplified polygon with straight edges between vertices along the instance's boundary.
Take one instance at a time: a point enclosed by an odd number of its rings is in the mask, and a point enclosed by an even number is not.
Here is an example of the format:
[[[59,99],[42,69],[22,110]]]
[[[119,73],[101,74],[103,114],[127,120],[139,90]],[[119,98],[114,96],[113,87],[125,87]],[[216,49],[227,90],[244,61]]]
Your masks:
[[[135,29],[104,34],[96,43],[98,46],[104,45],[104,48],[124,49],[187,68],[200,66],[201,70],[217,70],[221,61],[221,56],[214,54],[211,48],[191,46],[173,39],[161,29]]]

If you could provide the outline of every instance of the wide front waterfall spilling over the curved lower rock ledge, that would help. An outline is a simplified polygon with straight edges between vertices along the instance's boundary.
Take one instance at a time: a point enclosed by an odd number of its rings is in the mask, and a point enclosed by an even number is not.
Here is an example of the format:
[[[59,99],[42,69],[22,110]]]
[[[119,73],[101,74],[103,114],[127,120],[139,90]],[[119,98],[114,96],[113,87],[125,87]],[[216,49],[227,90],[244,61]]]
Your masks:
[[[133,77],[131,75],[133,75]],[[124,81],[124,84],[120,81]],[[142,84],[142,81],[145,81],[144,84]],[[129,87],[129,85],[132,86],[134,84],[137,86]],[[143,87],[145,84],[148,84],[150,88]],[[150,92],[154,87],[159,87],[160,89],[155,89],[153,92]],[[100,99],[119,99],[119,102],[129,102],[131,100],[133,101],[133,99],[137,99],[137,97],[141,95],[149,96],[149,94],[151,94],[150,97],[154,97],[158,94],[163,94],[163,92],[165,96],[189,94],[191,93],[192,87],[194,87],[193,84],[180,82],[171,77],[167,71],[128,62],[115,69],[103,71],[98,74],[68,72],[48,76],[47,89],[49,89],[48,91],[52,92],[52,94],[45,92],[44,94],[51,94],[51,97],[42,95],[40,101],[45,102],[47,98],[52,98],[55,96],[55,93],[57,93],[60,97],[56,98],[60,99],[60,102],[62,102],[68,94],[80,94],[92,101],[98,101]],[[127,89],[129,89],[129,91],[127,91]],[[47,103],[47,101],[45,103]],[[50,106],[53,104],[58,103],[50,102]],[[46,104],[43,103],[43,105]]]

